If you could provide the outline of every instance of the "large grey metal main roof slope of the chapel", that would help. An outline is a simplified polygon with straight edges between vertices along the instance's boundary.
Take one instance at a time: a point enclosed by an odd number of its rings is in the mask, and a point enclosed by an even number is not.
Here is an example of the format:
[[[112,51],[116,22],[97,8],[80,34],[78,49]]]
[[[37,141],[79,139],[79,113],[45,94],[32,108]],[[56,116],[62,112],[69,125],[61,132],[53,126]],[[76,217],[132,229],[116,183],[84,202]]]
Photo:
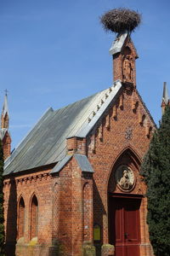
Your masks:
[[[65,108],[49,108],[5,160],[4,175],[63,160],[66,154],[66,138],[86,137],[121,87],[121,82],[116,81],[111,88]]]

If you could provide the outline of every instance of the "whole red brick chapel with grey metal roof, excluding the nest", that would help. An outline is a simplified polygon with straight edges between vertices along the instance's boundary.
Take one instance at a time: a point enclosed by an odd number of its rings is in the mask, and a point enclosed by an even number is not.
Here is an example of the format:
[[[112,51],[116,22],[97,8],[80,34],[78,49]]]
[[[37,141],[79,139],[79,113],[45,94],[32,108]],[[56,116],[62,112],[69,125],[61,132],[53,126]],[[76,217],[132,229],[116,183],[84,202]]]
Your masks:
[[[5,96],[6,255],[153,256],[139,169],[156,125],[136,87],[130,35],[110,52],[111,87],[49,108],[12,154]]]

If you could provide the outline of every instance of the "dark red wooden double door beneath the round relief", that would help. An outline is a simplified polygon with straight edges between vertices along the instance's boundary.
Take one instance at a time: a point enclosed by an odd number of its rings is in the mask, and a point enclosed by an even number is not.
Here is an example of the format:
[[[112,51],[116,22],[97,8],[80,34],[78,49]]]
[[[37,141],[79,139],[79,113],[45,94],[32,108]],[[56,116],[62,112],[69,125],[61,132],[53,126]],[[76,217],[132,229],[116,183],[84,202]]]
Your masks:
[[[141,199],[110,198],[110,243],[116,256],[139,256]]]

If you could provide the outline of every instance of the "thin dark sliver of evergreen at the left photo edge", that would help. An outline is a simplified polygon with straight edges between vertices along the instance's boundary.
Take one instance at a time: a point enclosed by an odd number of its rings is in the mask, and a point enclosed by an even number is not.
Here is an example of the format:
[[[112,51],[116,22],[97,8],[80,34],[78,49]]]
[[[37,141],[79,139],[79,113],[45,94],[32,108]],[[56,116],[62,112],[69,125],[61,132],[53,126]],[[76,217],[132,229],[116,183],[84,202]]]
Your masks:
[[[3,217],[3,147],[0,141],[0,255],[3,255],[4,244],[4,217]]]

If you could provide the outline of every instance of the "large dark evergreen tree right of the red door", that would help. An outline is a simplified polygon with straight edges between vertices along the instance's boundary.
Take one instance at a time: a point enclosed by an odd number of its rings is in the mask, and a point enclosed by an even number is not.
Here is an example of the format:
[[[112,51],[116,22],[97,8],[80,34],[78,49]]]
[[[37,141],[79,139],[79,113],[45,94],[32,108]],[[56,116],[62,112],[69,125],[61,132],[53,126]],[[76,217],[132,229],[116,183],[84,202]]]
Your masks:
[[[147,185],[150,242],[156,256],[170,255],[170,107],[154,133],[141,174]]]

